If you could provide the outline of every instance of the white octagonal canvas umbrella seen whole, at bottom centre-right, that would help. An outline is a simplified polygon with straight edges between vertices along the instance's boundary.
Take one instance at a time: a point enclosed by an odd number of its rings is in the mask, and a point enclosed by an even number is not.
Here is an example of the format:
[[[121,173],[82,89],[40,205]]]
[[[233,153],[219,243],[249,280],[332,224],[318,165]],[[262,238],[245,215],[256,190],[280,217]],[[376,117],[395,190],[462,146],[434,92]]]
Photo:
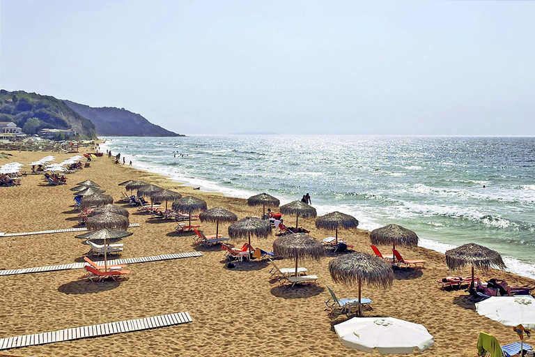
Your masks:
[[[334,325],[334,331],[344,346],[369,353],[376,349],[381,356],[412,354],[435,343],[424,326],[394,317],[353,317]]]

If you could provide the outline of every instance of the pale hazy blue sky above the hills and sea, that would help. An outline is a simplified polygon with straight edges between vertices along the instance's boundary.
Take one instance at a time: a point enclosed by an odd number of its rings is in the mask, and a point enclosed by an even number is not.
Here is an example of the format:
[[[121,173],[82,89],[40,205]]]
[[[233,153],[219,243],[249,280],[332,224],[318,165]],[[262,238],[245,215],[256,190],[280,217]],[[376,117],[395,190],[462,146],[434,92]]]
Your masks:
[[[535,135],[535,1],[0,6],[2,89],[180,133]]]

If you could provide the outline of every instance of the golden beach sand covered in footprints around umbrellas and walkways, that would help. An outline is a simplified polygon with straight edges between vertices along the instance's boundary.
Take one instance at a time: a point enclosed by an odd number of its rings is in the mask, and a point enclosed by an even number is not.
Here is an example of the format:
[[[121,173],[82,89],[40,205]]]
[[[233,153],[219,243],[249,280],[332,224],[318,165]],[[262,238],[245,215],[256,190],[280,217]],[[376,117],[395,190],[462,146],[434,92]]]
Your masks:
[[[70,157],[63,153],[11,152],[6,162],[28,163],[45,155],[56,162]],[[222,206],[243,218],[260,215],[261,207],[249,207],[245,199],[180,187],[178,183],[123,165],[108,158],[91,162],[91,168],[68,175],[68,184],[49,186],[42,175],[28,175],[22,185],[0,188],[0,231],[22,232],[70,228],[77,225],[73,211],[75,183],[91,179],[115,199],[127,179],[143,179],[173,188],[183,195],[206,199],[208,208]],[[277,196],[277,192],[270,192]],[[125,204],[119,204],[126,206]],[[56,271],[0,277],[0,338],[63,328],[137,319],[171,312],[188,311],[190,324],[123,333],[42,346],[12,349],[1,353],[13,356],[378,356],[344,347],[324,311],[329,298],[326,286],[339,298],[357,296],[357,287],[335,284],[328,264],[336,255],[320,261],[300,261],[309,273],[318,275],[318,286],[284,288],[270,280],[267,261],[237,263],[226,268],[219,248],[192,246],[192,233],[173,233],[176,223],[148,220],[137,208],[129,208],[134,234],[123,239],[122,257],[143,257],[199,250],[203,257],[131,264],[128,280],[87,282],[84,271]],[[286,216],[287,223],[295,220]],[[300,218],[310,235],[321,239],[332,231],[315,228],[313,218]],[[227,225],[219,225],[226,234]],[[215,234],[215,224],[202,224],[206,234]],[[28,268],[80,261],[86,245],[75,233],[0,237],[0,269]],[[369,232],[340,231],[339,236],[355,245],[355,250],[371,253]],[[252,245],[271,250],[277,238],[252,239]],[[241,245],[242,241],[234,242]],[[383,252],[389,247],[380,246]],[[501,344],[518,340],[510,327],[474,311],[474,303],[464,291],[442,291],[435,280],[447,275],[470,275],[447,270],[444,255],[425,248],[399,249],[406,259],[426,259],[421,271],[394,271],[391,289],[364,285],[362,296],[373,300],[369,317],[396,317],[423,324],[435,337],[435,344],[417,356],[474,356],[480,331],[495,335]],[[293,267],[293,261],[277,261],[279,267]],[[511,273],[479,271],[481,278],[504,278],[510,284],[534,284],[533,280]],[[343,321],[339,318],[336,321]],[[527,340],[529,343],[529,340]]]

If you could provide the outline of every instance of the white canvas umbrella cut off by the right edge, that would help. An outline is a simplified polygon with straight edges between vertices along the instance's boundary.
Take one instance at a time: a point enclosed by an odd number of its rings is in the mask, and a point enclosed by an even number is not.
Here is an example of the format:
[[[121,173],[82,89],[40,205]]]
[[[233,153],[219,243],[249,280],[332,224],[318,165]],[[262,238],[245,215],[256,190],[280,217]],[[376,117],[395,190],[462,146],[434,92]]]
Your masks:
[[[517,331],[535,328],[535,298],[531,295],[491,296],[476,303],[476,311],[500,324],[513,326]],[[520,351],[522,349],[524,341],[520,338]]]

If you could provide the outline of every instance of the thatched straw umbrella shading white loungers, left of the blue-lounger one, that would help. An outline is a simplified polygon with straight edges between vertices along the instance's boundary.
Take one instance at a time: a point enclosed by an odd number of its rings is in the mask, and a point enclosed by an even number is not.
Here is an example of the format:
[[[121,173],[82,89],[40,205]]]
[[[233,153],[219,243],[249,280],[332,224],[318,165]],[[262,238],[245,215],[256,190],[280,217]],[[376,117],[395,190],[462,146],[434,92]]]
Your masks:
[[[279,257],[295,259],[295,276],[299,259],[318,260],[325,255],[323,245],[304,233],[287,234],[278,238],[273,242],[273,252]]]

